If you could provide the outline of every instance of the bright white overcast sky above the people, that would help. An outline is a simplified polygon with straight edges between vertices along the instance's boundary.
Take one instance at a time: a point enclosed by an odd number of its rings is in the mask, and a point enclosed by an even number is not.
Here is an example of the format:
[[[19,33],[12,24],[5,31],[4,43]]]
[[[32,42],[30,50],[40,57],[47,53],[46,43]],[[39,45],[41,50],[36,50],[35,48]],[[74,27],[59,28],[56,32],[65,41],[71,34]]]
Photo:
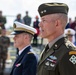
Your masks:
[[[35,16],[38,15],[38,6],[46,2],[63,2],[69,6],[68,17],[74,20],[76,16],[76,0],[0,0],[0,10],[3,11],[3,15],[7,18],[6,28],[13,26],[13,22],[18,13],[21,13],[22,17],[25,16],[25,11],[29,11],[29,16],[32,17],[32,21],[35,20]]]

